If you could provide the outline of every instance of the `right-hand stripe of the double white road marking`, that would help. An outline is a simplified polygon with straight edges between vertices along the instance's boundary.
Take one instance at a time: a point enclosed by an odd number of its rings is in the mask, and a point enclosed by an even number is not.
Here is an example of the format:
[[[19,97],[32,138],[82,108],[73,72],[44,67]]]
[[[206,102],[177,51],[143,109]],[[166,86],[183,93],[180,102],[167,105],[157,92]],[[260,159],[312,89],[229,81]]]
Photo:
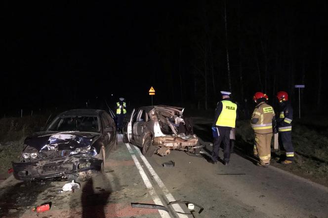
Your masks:
[[[160,186],[160,188],[163,190],[164,195],[165,195],[166,199],[168,200],[168,202],[176,201],[175,198],[173,197],[173,195],[166,188],[164,182],[161,180],[161,178],[157,175],[157,173],[155,172],[153,167],[150,165],[150,163],[148,162],[146,157],[141,153],[140,149],[136,146],[134,146],[134,149],[139,153],[142,161],[145,163],[145,165],[148,168],[150,174],[152,175],[154,180],[157,182],[157,184]],[[172,207],[177,212],[185,213],[183,211],[183,209],[180,207],[180,205],[178,205],[178,204],[173,204]],[[178,214],[178,216],[179,216],[179,218],[188,218],[187,215],[183,215],[183,214]]]

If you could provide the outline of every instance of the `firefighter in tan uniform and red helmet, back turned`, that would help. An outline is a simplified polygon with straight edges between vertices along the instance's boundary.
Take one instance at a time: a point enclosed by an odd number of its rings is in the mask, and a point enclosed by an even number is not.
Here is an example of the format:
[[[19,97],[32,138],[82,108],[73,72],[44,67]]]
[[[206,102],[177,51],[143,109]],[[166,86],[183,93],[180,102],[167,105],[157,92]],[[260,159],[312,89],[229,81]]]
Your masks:
[[[254,155],[258,155],[260,162],[257,166],[268,167],[271,159],[272,132],[276,128],[274,109],[266,103],[268,96],[256,92],[253,100],[256,103],[251,116],[251,127],[255,134]]]

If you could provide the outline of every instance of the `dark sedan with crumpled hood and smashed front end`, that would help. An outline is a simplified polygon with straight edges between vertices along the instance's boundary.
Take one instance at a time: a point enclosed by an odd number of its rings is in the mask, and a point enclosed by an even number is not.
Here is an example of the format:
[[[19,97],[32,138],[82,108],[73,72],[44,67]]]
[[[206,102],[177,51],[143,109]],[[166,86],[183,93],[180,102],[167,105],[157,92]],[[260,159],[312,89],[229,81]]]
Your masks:
[[[116,125],[104,110],[73,109],[57,115],[43,132],[27,137],[17,180],[77,179],[103,171],[106,153],[117,145]]]

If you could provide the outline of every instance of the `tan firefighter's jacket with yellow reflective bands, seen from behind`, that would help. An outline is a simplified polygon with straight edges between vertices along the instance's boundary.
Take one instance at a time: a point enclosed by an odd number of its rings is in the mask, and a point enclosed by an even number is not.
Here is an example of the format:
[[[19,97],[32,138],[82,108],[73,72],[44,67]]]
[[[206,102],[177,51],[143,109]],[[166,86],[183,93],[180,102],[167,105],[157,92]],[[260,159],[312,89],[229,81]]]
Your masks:
[[[257,134],[269,134],[275,127],[276,115],[272,106],[260,102],[251,116],[251,127]]]

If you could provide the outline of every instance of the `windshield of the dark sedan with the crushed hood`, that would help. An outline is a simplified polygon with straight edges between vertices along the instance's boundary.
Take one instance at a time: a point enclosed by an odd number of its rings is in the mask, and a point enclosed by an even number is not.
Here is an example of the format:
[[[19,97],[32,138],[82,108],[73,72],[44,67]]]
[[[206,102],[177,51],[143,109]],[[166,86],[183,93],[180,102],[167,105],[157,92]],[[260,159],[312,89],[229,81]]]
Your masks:
[[[62,116],[54,119],[47,131],[100,132],[99,127],[97,116]]]

